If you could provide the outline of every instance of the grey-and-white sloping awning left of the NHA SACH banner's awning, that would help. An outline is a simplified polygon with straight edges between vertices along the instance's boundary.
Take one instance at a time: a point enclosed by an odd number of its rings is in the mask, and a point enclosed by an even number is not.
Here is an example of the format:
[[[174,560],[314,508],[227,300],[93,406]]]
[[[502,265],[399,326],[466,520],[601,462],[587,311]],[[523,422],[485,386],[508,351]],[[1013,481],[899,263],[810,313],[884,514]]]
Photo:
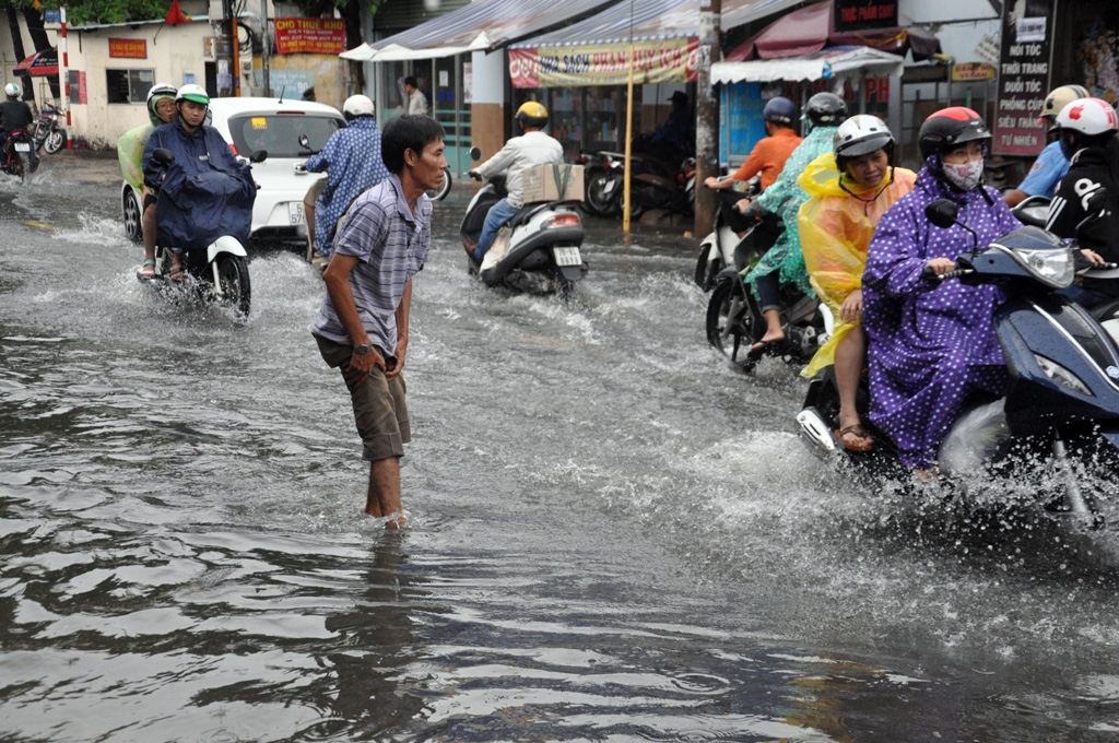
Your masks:
[[[361,62],[434,59],[467,51],[492,51],[511,41],[581,18],[611,0],[477,0],[448,13],[363,44],[340,55]]]

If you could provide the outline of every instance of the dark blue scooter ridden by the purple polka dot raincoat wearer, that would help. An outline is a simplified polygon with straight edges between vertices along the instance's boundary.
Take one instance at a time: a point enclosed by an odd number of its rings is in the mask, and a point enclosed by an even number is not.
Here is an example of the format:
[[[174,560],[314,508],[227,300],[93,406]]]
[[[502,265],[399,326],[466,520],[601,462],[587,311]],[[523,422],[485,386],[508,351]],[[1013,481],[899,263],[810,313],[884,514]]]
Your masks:
[[[956,205],[946,199],[930,204],[927,216],[939,228],[960,224]],[[1089,311],[1057,293],[1073,282],[1074,251],[1034,225],[990,245],[975,245],[956,264],[939,280],[997,284],[1005,297],[994,325],[1009,382],[1005,396],[974,399],[965,407],[940,446],[938,469],[949,479],[988,471],[1021,481],[1032,463],[1042,462],[1059,476],[1057,486],[1052,478],[1043,480],[1050,485],[1031,497],[1047,514],[1072,517],[1078,528],[1100,527],[1100,497],[1109,495],[1119,467],[1119,301]],[[1119,275],[1109,265],[1099,278],[1107,272]],[[857,406],[875,446],[852,452],[834,433],[839,395],[829,367],[809,384],[796,416],[800,434],[821,457],[900,473],[896,449],[866,416],[868,402],[864,379]]]

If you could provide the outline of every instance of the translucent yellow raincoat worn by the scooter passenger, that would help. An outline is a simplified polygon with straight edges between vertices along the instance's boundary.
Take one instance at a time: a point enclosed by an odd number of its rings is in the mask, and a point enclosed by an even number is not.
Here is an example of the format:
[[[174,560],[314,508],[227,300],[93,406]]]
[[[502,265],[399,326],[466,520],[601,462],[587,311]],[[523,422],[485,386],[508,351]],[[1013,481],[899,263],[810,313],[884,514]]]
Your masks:
[[[839,308],[850,292],[863,288],[866,250],[871,246],[874,228],[894,201],[913,190],[916,173],[894,168],[893,180],[877,197],[875,192],[882,188],[881,184],[865,188],[846,173],[841,178],[843,187],[835,154],[828,152],[812,160],[797,179],[811,197],[797,215],[805,264],[817,297],[835,317],[831,338],[801,372],[806,377],[834,364],[836,346],[858,326],[840,320]],[[874,200],[863,200],[871,198]]]

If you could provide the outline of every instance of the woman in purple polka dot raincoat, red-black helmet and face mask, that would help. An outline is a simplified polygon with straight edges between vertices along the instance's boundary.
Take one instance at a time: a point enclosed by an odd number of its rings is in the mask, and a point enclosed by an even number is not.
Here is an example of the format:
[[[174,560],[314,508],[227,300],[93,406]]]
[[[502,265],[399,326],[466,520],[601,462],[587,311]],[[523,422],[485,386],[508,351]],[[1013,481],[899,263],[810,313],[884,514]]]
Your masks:
[[[991,285],[922,276],[956,267],[975,239],[959,225],[934,227],[925,206],[940,198],[984,247],[1021,226],[998,191],[982,185],[990,132],[975,111],[943,109],[918,135],[925,166],[913,190],[878,223],[863,274],[871,420],[893,439],[902,463],[928,476],[937,450],[974,393],[1000,394],[1006,366],[991,322],[1002,301]]]

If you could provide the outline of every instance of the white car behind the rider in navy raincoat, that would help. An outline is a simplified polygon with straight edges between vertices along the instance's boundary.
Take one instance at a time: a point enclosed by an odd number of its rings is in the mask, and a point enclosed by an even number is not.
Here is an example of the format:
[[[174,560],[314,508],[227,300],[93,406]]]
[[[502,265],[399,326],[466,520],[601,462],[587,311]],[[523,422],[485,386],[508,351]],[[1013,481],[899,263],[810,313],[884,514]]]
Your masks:
[[[251,239],[307,239],[303,197],[311,185],[327,175],[311,173],[303,163],[322,149],[330,135],[346,125],[332,106],[310,101],[280,98],[211,98],[207,122],[214,126],[234,154],[247,162],[257,150],[267,150],[264,162],[253,166],[253,180],[260,184],[253,204]],[[305,145],[300,138],[307,135]],[[121,186],[124,229],[140,243],[142,196],[128,182]]]

